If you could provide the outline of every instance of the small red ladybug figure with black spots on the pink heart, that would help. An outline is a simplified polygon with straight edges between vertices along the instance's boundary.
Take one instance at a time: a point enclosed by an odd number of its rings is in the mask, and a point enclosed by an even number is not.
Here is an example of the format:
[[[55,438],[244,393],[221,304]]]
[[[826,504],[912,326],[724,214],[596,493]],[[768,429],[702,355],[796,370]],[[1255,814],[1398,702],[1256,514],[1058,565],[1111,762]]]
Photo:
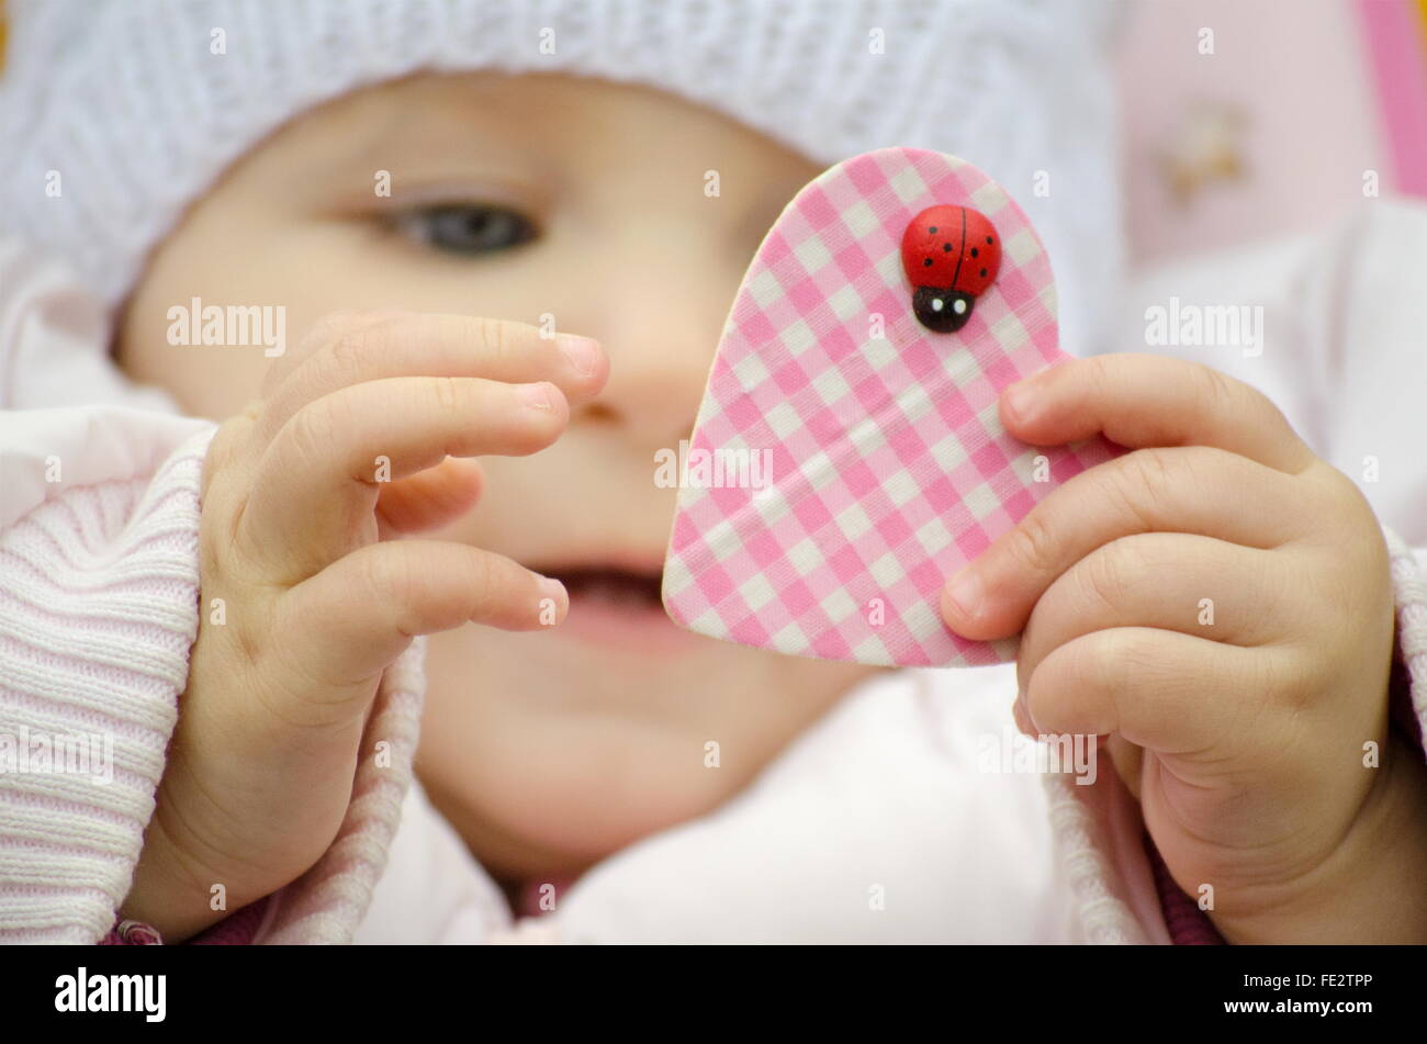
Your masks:
[[[1000,268],[1000,235],[970,207],[928,207],[902,234],[902,268],[912,282],[912,311],[938,334],[966,325],[972,305]]]

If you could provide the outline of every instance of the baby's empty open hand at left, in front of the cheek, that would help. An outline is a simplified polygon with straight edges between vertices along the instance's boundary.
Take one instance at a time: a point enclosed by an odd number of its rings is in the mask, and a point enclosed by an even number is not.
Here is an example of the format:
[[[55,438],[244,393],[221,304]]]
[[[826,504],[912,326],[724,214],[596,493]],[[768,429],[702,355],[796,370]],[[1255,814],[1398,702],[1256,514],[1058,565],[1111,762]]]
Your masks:
[[[311,867],[415,635],[564,619],[559,582],[508,558],[381,538],[467,511],[457,458],[544,449],[606,374],[588,338],[407,312],[328,317],[274,364],[204,464],[198,639],[124,917],[180,941],[227,916],[215,884],[231,911]]]

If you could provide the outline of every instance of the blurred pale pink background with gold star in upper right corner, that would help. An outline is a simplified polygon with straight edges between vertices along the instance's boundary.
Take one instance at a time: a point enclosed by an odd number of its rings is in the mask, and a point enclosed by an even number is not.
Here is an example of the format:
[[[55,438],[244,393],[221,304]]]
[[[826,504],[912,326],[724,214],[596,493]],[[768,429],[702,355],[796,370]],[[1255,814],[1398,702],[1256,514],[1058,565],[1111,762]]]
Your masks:
[[[1361,204],[1367,170],[1383,195],[1417,188],[1388,120],[1427,107],[1424,7],[1129,0],[1117,74],[1132,261],[1319,227]]]

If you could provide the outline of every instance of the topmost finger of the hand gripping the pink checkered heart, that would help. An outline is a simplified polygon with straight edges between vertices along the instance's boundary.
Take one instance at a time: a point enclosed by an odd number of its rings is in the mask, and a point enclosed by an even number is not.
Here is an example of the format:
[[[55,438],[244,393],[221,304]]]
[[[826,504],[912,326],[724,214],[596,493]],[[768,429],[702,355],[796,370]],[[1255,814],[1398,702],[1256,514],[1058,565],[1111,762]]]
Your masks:
[[[1042,369],[1002,392],[1000,419],[1037,446],[1102,432],[1132,449],[1216,446],[1290,475],[1316,459],[1263,392],[1162,355],[1096,355]]]

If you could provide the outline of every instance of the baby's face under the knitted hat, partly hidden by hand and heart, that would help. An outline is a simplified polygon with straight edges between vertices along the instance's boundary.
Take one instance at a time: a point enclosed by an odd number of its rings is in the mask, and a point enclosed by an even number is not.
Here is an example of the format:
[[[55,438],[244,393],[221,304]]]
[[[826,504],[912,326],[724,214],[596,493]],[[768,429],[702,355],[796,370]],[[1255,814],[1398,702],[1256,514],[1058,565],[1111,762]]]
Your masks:
[[[167,311],[194,297],[284,305],[293,344],[325,312],[387,307],[548,314],[604,344],[605,392],[551,449],[482,461],[481,502],[432,533],[571,592],[557,629],[431,639],[418,770],[499,876],[577,873],[712,809],[866,673],[689,635],[658,596],[675,491],[655,485],[655,452],[689,435],[739,277],[816,173],[646,88],[417,77],[251,150],[158,247],[130,302],[124,369],[214,419],[257,398],[270,361],[171,347]]]

